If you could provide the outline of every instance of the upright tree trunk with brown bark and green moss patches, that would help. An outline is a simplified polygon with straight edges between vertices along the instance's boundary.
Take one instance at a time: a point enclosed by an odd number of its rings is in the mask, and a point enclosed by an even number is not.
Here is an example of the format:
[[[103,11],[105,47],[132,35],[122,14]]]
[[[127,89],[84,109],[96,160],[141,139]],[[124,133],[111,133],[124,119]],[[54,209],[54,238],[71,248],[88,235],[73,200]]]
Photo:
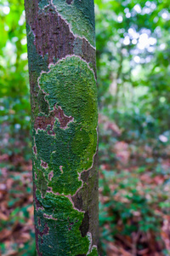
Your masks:
[[[98,255],[94,0],[26,0],[38,255]]]

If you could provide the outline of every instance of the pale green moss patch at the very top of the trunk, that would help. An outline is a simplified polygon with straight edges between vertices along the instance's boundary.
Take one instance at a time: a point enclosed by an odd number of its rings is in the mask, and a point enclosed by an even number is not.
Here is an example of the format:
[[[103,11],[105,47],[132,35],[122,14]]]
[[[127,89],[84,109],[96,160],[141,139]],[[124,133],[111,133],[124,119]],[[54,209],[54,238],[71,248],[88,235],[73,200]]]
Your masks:
[[[74,0],[71,4],[65,0],[53,0],[53,3],[59,15],[70,24],[71,31],[95,46],[94,0]],[[40,8],[45,5],[45,0],[39,3]]]

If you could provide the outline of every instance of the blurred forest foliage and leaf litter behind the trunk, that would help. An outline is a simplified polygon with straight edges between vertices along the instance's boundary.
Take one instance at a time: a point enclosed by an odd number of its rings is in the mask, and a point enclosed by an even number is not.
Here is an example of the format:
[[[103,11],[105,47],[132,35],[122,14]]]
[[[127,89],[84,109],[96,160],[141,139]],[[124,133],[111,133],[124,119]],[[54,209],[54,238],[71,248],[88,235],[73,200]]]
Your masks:
[[[102,255],[170,255],[170,6],[95,0]],[[36,255],[23,0],[0,2],[0,250]]]

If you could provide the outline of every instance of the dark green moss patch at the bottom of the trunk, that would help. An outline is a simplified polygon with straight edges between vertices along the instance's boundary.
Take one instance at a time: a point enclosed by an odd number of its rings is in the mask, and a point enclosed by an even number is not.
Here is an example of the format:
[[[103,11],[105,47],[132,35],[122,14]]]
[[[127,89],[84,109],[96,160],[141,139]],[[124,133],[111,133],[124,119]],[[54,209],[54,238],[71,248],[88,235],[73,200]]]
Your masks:
[[[37,190],[37,200],[43,207],[35,217],[38,233],[41,234],[38,236],[40,253],[44,256],[88,253],[88,236],[82,237],[79,230],[83,212],[75,210],[71,201],[62,195],[48,193],[42,199]]]

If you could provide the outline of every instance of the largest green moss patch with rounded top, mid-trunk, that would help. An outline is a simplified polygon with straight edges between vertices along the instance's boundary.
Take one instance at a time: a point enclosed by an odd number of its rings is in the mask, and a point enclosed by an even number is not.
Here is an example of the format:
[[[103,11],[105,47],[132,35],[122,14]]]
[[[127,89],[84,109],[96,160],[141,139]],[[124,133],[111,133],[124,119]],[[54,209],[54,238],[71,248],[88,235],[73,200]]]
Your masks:
[[[47,178],[49,172],[54,172],[54,177],[48,180],[48,186],[54,193],[74,195],[82,185],[78,173],[93,165],[97,147],[98,115],[94,73],[85,61],[71,56],[51,66],[48,73],[42,73],[39,86],[46,94],[50,110],[59,106],[74,121],[68,128],[61,129],[56,119],[55,136],[48,134],[48,128],[47,131],[39,130],[35,133],[37,160],[48,163],[48,168],[44,170]]]

